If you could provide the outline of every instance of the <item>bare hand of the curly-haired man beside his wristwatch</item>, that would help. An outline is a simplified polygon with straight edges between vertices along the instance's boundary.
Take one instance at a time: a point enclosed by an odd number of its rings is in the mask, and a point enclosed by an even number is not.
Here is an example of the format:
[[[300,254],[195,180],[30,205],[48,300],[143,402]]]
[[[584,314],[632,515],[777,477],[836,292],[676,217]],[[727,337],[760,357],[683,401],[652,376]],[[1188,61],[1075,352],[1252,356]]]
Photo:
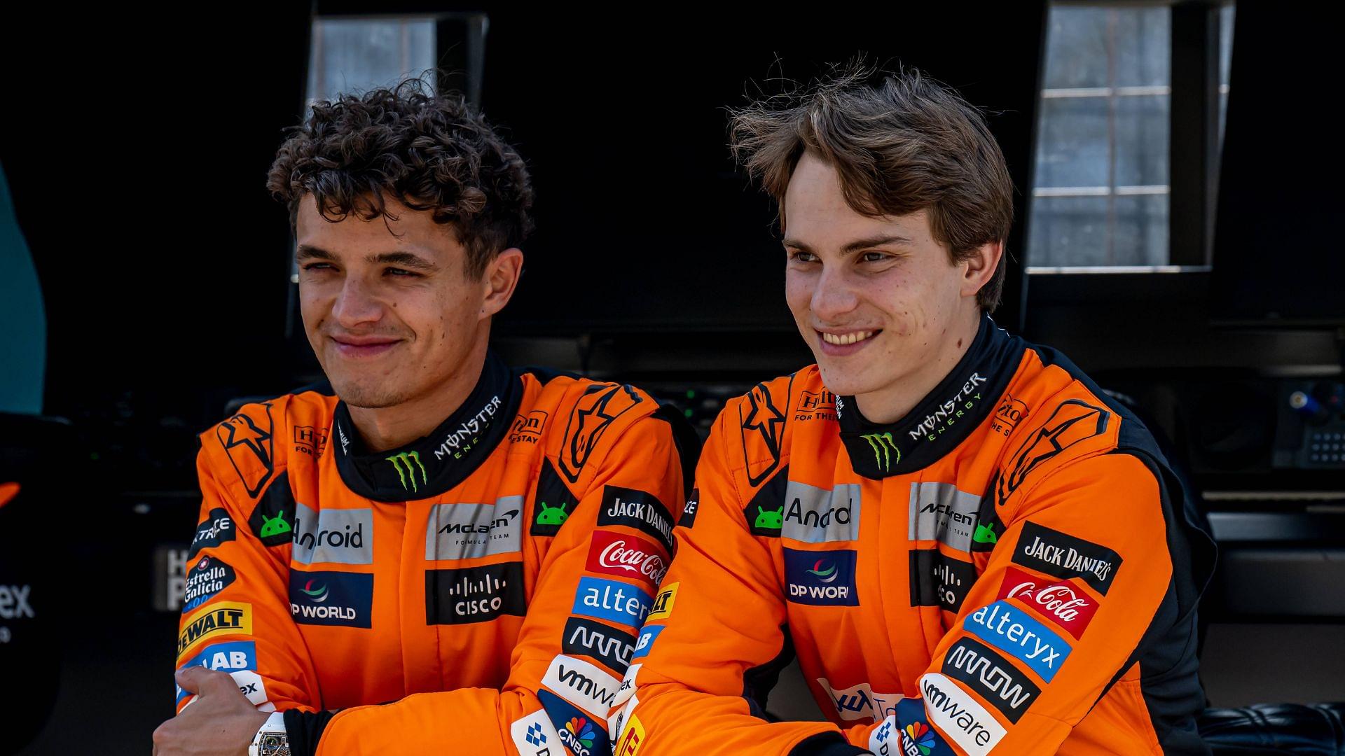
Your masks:
[[[155,756],[247,756],[270,714],[258,712],[227,673],[191,666],[176,678],[196,700],[155,729]]]

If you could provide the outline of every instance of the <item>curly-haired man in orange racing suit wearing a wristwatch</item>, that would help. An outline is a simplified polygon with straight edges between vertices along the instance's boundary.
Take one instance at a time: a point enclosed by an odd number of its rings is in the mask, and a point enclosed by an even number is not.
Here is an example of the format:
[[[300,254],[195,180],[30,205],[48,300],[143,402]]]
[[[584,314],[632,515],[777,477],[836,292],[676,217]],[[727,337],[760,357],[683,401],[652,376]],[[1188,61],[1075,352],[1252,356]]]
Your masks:
[[[319,102],[268,188],[328,382],[200,436],[155,752],[601,753],[685,500],[678,416],[490,351],[533,190],[461,98]]]

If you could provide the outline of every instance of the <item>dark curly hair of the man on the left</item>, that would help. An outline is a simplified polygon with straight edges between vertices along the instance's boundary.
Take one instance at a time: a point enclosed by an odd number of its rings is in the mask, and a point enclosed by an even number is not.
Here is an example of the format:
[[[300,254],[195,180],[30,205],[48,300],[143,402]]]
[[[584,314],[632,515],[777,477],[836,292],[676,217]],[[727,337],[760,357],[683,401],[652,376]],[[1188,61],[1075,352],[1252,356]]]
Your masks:
[[[291,223],[312,194],[328,221],[393,218],[385,196],[429,210],[467,249],[480,278],[500,252],[533,230],[533,186],[518,152],[460,94],[432,94],[421,79],[313,104],[292,126],[266,174]]]

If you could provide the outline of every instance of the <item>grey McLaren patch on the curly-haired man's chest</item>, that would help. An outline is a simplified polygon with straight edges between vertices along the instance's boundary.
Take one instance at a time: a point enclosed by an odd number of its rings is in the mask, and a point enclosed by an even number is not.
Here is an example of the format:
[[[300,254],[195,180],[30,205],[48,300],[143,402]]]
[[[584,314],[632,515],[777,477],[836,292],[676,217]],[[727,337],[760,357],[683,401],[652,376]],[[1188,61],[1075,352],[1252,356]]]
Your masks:
[[[523,496],[494,504],[434,504],[425,527],[425,558],[471,560],[510,554],[523,543]]]

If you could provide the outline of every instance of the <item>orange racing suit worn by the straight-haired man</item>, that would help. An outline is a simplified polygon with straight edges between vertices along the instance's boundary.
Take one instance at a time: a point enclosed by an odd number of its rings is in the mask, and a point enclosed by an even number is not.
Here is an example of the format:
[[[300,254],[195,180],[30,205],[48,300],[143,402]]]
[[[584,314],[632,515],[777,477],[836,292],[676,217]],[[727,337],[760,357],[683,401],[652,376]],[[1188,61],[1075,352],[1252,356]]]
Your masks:
[[[1213,543],[1143,424],[989,317],[880,425],[815,366],[726,405],[617,756],[1202,753]],[[771,722],[798,654],[827,722]]]

